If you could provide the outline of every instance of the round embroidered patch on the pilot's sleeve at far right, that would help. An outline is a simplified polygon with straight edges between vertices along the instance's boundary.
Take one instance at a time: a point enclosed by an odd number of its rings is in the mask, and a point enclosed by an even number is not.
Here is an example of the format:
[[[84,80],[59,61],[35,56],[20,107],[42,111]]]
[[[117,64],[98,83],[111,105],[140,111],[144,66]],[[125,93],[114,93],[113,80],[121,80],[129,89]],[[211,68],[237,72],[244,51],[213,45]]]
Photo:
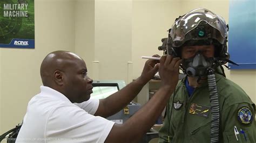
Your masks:
[[[253,121],[252,111],[247,107],[238,110],[238,121],[242,124],[250,124]]]

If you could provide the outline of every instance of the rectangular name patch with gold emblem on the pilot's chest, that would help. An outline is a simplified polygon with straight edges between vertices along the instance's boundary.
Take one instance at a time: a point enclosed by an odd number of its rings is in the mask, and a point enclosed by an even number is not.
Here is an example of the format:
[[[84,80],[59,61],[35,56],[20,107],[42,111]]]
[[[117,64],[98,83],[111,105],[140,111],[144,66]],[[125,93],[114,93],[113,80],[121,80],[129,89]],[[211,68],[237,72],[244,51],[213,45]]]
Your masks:
[[[207,106],[199,105],[199,104],[196,104],[196,103],[191,103],[190,113],[193,114],[193,115],[208,118],[209,111],[210,111],[210,108],[207,107]]]

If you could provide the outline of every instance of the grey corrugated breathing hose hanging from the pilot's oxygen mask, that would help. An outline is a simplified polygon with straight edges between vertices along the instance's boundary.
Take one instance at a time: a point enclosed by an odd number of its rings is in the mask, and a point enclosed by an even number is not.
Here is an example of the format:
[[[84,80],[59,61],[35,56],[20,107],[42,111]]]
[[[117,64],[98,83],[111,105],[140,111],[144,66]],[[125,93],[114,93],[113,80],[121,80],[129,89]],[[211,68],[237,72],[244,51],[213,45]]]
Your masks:
[[[219,142],[219,123],[220,123],[220,112],[219,112],[219,99],[217,93],[217,86],[215,81],[214,71],[208,69],[208,88],[210,92],[211,102],[211,143]]]

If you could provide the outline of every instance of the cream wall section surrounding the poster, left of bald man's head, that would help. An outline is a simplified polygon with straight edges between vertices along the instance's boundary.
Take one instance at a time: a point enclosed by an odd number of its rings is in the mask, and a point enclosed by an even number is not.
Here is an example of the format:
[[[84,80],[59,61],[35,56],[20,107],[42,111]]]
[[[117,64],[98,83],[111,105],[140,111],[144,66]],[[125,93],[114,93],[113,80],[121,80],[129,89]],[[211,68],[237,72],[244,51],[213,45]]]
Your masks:
[[[72,0],[35,0],[35,49],[0,49],[0,134],[23,119],[42,85],[39,67],[46,54],[75,51]]]

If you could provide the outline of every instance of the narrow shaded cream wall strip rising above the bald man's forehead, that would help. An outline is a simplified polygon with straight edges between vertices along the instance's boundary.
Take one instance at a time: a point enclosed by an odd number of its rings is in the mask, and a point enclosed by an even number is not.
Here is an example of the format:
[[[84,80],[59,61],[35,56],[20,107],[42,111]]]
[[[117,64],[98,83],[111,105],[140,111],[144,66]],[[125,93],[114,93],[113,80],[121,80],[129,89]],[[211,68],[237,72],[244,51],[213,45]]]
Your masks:
[[[94,77],[95,61],[95,1],[75,1],[75,52],[85,61],[90,77]]]

